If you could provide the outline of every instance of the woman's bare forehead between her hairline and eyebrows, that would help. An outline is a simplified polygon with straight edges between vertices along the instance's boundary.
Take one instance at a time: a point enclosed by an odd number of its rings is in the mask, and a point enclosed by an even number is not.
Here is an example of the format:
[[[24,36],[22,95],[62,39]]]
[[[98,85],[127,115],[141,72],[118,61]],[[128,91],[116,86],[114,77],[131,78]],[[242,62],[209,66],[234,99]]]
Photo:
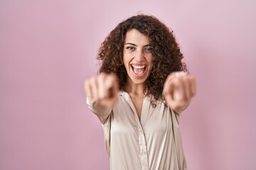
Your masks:
[[[140,45],[140,44],[143,45],[143,44],[149,44],[150,39],[149,39],[149,36],[140,33],[136,29],[132,29],[127,31],[124,42],[125,43],[132,42],[132,43],[135,43],[136,45]]]

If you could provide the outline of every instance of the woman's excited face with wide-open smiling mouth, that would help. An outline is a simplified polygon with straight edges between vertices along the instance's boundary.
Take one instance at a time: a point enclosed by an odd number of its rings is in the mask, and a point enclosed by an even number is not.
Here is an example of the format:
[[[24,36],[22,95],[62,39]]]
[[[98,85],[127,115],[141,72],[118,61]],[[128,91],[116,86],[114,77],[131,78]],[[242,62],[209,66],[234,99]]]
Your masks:
[[[124,40],[124,66],[129,84],[144,84],[153,67],[153,47],[149,37],[138,30],[129,30]]]

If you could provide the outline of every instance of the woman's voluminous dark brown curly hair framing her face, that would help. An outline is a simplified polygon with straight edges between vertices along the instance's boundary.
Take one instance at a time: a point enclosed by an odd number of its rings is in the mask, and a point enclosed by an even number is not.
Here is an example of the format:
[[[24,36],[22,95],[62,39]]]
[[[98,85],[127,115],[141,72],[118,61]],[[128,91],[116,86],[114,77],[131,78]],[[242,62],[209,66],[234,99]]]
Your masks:
[[[119,23],[100,46],[97,55],[97,60],[101,62],[99,72],[116,74],[119,79],[119,89],[124,88],[127,82],[127,71],[123,62],[124,40],[127,31],[131,29],[136,29],[148,36],[150,45],[154,49],[152,51],[153,67],[145,84],[146,95],[154,96],[151,105],[155,107],[157,101],[164,101],[162,91],[169,74],[178,71],[187,72],[186,64],[181,61],[183,54],[173,31],[158,18],[139,14]]]

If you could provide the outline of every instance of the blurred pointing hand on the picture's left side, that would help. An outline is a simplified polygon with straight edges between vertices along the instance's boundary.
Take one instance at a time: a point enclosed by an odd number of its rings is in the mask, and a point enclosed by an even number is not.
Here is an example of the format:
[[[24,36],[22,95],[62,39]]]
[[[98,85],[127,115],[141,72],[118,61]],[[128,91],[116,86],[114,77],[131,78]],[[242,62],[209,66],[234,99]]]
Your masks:
[[[115,74],[100,73],[85,80],[85,92],[92,102],[109,109],[114,107],[118,99],[118,81]]]

